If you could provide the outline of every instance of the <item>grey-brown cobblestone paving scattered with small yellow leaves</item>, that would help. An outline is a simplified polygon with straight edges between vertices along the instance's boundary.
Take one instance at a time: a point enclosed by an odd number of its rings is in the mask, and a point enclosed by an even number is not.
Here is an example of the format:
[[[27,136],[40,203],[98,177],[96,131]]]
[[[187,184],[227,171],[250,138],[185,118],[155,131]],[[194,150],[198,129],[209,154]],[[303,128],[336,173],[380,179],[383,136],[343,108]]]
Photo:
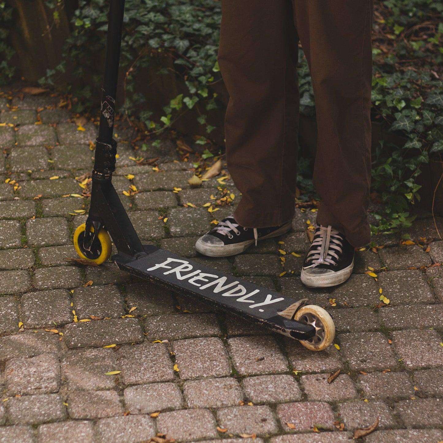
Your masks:
[[[310,352],[112,263],[67,261],[89,203],[76,196],[75,177],[92,169],[97,127],[78,130],[68,111],[51,108],[57,102],[0,100],[0,442],[140,442],[157,432],[183,441],[345,442],[377,417],[369,442],[443,440],[443,267],[433,266],[443,242],[427,214],[408,230],[414,244],[375,237],[385,247],[358,251],[346,284],[307,290],[299,256],[315,213],[298,210],[290,233],[240,256],[198,256],[198,235],[231,212],[203,207],[217,179],[189,189],[190,162],[173,142],[144,153],[160,157],[156,172],[130,158],[131,134],[119,134],[115,186],[140,237],[326,307],[336,346]],[[131,184],[140,192],[126,197]]]

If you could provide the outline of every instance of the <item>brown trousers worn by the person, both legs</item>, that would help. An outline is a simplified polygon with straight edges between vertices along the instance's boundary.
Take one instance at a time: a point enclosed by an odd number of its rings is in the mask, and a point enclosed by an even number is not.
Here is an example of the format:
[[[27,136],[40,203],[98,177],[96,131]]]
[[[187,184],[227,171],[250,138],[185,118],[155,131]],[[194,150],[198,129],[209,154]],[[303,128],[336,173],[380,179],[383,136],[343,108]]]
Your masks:
[[[317,222],[365,245],[373,0],[221,0],[221,11],[226,158],[242,193],[237,222],[260,228],[294,216],[300,40],[317,113]]]

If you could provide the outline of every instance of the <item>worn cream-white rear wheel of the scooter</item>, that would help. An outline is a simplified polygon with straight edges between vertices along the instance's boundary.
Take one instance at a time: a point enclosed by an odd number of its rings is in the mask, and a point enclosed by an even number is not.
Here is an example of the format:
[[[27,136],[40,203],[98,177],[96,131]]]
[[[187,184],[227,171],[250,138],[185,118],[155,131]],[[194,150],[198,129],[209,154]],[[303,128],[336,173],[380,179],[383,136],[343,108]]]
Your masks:
[[[332,317],[323,309],[316,305],[307,305],[300,308],[294,320],[312,325],[315,327],[315,335],[307,340],[300,340],[300,343],[311,351],[321,351],[326,349],[335,337],[335,326]]]

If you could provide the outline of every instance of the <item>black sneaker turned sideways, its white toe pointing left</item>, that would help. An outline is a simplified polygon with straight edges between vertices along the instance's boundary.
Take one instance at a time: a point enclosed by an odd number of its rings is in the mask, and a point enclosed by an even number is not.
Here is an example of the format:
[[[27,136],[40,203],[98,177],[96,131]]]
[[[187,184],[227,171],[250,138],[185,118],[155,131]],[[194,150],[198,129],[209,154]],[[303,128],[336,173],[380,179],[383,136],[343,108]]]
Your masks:
[[[240,226],[233,215],[226,217],[218,225],[200,237],[195,243],[195,249],[210,257],[225,257],[240,254],[254,242],[265,238],[277,237],[291,229],[291,222],[271,228],[244,228]]]

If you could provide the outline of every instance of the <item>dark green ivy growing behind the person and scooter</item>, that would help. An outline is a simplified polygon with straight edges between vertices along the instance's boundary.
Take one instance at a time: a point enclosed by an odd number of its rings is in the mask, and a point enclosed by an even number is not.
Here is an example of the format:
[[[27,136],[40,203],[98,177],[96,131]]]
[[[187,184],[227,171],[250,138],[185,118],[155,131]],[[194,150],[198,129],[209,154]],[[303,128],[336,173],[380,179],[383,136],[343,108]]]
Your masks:
[[[64,2],[46,0],[54,20]],[[2,6],[3,5],[3,6]],[[71,5],[72,6],[72,5]],[[93,88],[101,86],[96,59],[105,48],[109,1],[78,0],[71,17],[72,32],[66,40],[63,61],[41,79],[42,85],[57,83],[68,70],[78,83],[70,85],[74,111],[95,104]],[[11,56],[5,20],[11,8],[0,0],[6,14],[0,18],[0,53]],[[380,141],[373,152],[373,196],[382,202],[374,213],[374,233],[393,232],[411,224],[411,205],[420,200],[417,177],[423,165],[443,151],[443,2],[434,0],[376,0],[373,26],[373,120],[397,141]],[[211,110],[221,106],[213,85],[222,81],[217,63],[221,8],[218,0],[126,0],[124,36],[120,66],[125,70],[125,100],[121,112],[134,115],[145,97],[135,87],[140,70],[152,65],[154,56],[167,54],[171,64],[157,74],[183,78],[186,92],[168,97],[163,113],[154,118],[152,109],[136,116],[147,134],[161,132],[189,109],[197,109],[198,123],[206,134]],[[3,46],[2,46],[3,45]],[[7,59],[8,57],[6,57]],[[0,81],[12,75],[7,62],[0,65]],[[315,116],[311,77],[303,51],[299,52],[300,111]],[[87,79],[87,80],[83,80]],[[155,85],[155,78],[149,79]],[[206,137],[197,143],[202,151]],[[299,187],[310,194],[306,169],[311,162],[300,161]],[[302,196],[303,197],[303,196]]]

